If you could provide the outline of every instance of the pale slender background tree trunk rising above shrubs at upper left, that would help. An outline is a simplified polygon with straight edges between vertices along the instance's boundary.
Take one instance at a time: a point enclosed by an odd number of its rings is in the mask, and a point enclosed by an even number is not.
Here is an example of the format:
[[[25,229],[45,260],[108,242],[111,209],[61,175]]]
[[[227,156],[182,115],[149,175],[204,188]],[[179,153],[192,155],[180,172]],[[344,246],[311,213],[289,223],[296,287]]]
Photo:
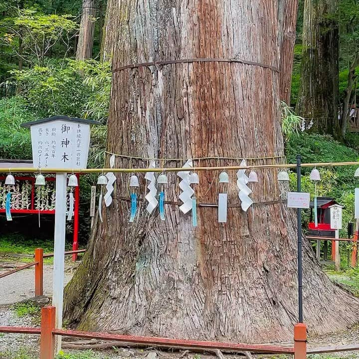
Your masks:
[[[95,0],[82,0],[82,15],[76,50],[76,60],[87,60],[92,57],[92,46],[96,20],[95,16]]]

